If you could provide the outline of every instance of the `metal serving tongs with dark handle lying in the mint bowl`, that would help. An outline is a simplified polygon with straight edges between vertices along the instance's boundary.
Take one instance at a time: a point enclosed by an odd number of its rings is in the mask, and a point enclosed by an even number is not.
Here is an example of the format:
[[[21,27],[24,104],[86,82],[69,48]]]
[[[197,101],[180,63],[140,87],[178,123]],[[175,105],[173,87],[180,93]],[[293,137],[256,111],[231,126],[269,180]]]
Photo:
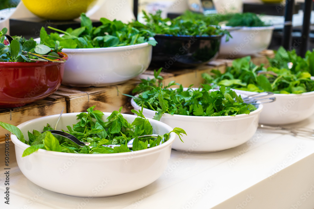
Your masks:
[[[47,130],[49,132],[51,132],[53,135],[57,135],[57,136],[62,136],[65,137],[69,140],[71,140],[72,142],[74,142],[75,144],[77,144],[80,147],[84,147],[84,146],[89,146],[90,143],[89,142],[82,142],[80,140],[78,140],[78,138],[76,138],[75,136],[73,136],[72,134],[69,134],[67,132],[64,131],[59,131],[59,130]],[[44,133],[46,131],[43,131],[41,133]],[[154,137],[157,138],[158,134],[150,134],[150,135],[143,135],[143,136],[138,136],[138,138],[145,138],[145,137]],[[133,141],[135,138],[132,138],[128,143],[127,143],[127,148],[133,148]],[[162,138],[160,144],[164,141],[165,138]],[[114,147],[119,147],[119,144],[109,144],[109,145],[105,145],[103,144],[102,146],[104,147],[110,147],[110,148],[114,148]],[[147,147],[149,147],[150,144],[147,145]],[[89,148],[92,148],[91,146],[89,146]]]

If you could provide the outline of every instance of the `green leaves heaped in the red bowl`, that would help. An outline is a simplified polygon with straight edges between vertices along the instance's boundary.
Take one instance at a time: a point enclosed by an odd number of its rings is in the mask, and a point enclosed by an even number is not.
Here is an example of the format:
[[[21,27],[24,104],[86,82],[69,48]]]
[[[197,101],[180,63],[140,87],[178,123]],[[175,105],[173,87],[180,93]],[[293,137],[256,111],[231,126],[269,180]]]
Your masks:
[[[61,51],[61,48],[57,45],[49,47],[44,44],[37,44],[32,38],[27,40],[24,37],[15,36],[10,45],[7,46],[4,44],[3,36],[7,32],[7,28],[0,31],[0,62],[36,62],[38,58],[30,53],[60,57],[57,53]],[[47,58],[58,59],[55,57],[48,56]]]

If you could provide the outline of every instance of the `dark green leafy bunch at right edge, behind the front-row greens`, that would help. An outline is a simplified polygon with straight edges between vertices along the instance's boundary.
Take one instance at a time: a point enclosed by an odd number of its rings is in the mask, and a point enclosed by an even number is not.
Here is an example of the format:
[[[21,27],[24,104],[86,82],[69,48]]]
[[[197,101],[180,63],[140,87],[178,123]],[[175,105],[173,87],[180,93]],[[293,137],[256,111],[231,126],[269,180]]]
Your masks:
[[[275,51],[275,57],[268,60],[273,67],[290,69],[294,74],[300,71],[308,72],[314,76],[314,50],[307,51],[305,58],[302,58],[296,54],[295,50],[286,51],[280,46],[278,51]],[[288,63],[292,66],[288,66]]]

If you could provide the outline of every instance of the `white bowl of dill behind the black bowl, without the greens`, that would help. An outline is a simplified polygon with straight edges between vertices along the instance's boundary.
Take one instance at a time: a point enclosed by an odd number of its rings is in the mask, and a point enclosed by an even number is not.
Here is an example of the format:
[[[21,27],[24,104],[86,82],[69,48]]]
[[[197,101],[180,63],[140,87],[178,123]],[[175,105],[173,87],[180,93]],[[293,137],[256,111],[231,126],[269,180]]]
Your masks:
[[[230,26],[223,29],[232,28]],[[273,34],[273,26],[267,27],[243,27],[239,30],[230,31],[232,38],[226,42],[222,37],[219,55],[228,59],[252,55],[268,48]]]

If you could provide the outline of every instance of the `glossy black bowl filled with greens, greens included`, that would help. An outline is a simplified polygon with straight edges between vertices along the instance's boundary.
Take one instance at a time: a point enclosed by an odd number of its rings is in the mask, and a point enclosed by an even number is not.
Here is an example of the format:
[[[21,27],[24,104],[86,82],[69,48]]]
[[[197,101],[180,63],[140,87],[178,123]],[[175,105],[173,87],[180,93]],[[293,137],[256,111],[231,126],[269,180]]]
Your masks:
[[[145,29],[154,32],[158,42],[153,47],[152,64],[164,68],[191,68],[208,63],[218,56],[221,38],[226,33],[219,26],[209,26],[202,19],[190,18],[187,12],[175,19],[144,14]]]

